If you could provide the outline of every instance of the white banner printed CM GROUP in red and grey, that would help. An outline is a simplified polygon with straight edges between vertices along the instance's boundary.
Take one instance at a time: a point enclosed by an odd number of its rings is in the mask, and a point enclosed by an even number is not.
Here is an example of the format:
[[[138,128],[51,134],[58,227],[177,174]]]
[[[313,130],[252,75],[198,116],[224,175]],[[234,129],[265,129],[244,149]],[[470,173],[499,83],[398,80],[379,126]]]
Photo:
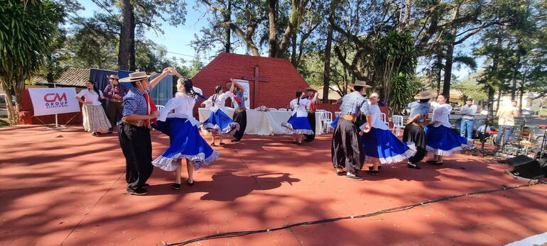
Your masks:
[[[76,89],[71,88],[30,88],[34,116],[55,113],[80,112],[80,103],[75,99]]]

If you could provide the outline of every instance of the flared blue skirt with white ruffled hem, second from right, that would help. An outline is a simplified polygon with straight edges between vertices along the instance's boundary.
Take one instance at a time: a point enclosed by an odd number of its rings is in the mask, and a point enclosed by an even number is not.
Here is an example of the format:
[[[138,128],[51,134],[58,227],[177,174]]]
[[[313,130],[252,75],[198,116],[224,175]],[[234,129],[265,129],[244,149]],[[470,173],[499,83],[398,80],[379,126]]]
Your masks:
[[[381,164],[401,162],[416,154],[413,142],[401,142],[391,131],[370,128],[361,136],[364,155],[380,160]]]

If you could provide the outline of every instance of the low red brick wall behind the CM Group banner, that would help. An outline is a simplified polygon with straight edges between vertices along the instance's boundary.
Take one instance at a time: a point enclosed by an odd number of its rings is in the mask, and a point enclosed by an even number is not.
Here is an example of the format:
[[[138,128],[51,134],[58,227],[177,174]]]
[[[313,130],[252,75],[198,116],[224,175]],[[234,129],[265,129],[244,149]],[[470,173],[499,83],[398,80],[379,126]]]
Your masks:
[[[82,124],[82,113],[81,113],[82,105],[80,105],[80,112],[79,113],[60,113],[57,115],[58,117],[58,123],[65,125],[67,121],[72,118],[72,121],[68,123],[68,125],[81,125]],[[28,89],[24,89],[21,91],[21,111],[22,112],[29,112],[32,116],[32,124],[33,125],[42,125],[45,124],[51,124],[55,123],[55,115],[51,116],[34,116],[34,109],[32,106],[31,101],[31,94],[28,94]],[[76,116],[75,116],[76,115]]]

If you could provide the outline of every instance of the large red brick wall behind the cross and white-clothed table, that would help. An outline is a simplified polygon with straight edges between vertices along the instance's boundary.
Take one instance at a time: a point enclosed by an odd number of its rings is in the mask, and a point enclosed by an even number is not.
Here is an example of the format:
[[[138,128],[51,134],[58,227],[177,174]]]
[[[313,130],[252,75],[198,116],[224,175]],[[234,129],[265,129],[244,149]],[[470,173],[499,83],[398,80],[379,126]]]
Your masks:
[[[256,66],[259,67],[259,77],[265,77],[269,82],[259,82],[259,97],[254,105],[255,82],[249,80],[251,108],[262,105],[269,108],[287,108],[289,102],[295,98],[296,91],[309,86],[288,60],[224,52],[195,74],[192,81],[203,90],[205,96],[210,96],[217,85],[222,85],[226,91],[225,85],[230,78],[254,77]],[[232,102],[227,100],[227,105],[232,105]]]

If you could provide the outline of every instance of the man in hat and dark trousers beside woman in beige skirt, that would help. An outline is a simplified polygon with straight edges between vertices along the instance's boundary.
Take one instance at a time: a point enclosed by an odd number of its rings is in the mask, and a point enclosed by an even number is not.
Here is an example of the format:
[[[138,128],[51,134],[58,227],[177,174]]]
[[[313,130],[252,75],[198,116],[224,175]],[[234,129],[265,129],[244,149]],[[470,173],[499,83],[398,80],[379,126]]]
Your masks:
[[[114,126],[121,119],[121,112],[124,110],[121,105],[121,99],[124,98],[129,89],[123,84],[119,84],[119,77],[116,75],[110,75],[108,79],[110,80],[110,84],[104,87],[104,96],[108,99],[107,117],[110,125],[112,125],[108,133],[112,133]]]

